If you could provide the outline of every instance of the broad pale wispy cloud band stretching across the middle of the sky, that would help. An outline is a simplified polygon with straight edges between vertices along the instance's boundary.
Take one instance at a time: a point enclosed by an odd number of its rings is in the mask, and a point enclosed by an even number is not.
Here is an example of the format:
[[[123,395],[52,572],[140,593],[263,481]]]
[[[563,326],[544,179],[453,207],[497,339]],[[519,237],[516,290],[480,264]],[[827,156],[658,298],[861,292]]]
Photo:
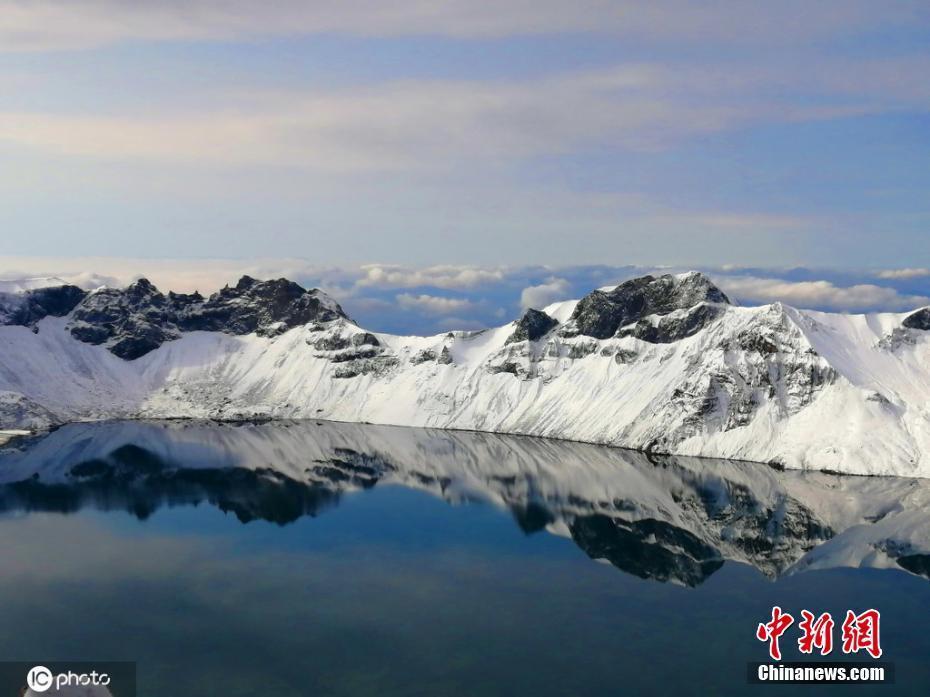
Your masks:
[[[668,148],[759,123],[930,105],[930,60],[881,79],[848,61],[753,67],[630,64],[521,81],[396,81],[353,90],[223,95],[144,113],[0,111],[0,143],[71,157],[336,172],[442,168],[595,146]],[[890,71],[893,70],[892,74]],[[850,80],[848,73],[857,74]],[[863,77],[863,74],[866,74]]]

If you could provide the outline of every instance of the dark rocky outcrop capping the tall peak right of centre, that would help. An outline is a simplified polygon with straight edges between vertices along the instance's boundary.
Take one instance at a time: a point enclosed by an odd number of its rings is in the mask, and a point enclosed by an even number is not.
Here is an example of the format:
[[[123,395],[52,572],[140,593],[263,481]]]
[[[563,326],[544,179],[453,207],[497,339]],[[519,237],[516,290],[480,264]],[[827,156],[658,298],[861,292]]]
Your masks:
[[[643,317],[667,315],[702,302],[729,304],[730,299],[703,274],[643,276],[610,291],[589,293],[575,307],[572,322],[579,334],[608,339]]]

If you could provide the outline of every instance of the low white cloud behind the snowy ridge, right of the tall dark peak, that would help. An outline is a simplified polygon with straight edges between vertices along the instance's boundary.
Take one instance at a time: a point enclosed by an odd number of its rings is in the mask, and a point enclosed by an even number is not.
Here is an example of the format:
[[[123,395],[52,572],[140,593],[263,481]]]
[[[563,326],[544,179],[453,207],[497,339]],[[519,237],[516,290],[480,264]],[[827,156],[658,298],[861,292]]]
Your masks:
[[[930,298],[901,295],[894,288],[869,283],[841,287],[830,281],[785,281],[755,276],[720,276],[715,282],[732,299],[749,304],[777,300],[801,308],[844,312],[909,310],[930,304]]]

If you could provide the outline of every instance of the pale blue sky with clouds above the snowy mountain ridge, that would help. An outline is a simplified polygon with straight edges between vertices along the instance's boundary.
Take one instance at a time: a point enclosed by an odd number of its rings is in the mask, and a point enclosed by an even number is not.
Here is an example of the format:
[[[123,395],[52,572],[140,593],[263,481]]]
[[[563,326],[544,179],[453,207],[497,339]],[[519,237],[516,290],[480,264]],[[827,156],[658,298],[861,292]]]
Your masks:
[[[291,270],[420,331],[632,267],[900,309],[927,75],[926,0],[0,0],[0,278]]]

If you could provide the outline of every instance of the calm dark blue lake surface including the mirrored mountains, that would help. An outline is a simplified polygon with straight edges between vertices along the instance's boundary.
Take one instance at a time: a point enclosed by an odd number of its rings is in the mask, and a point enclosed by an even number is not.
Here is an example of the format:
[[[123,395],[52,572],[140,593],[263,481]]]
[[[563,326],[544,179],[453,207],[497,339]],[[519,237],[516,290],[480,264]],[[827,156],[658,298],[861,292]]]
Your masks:
[[[73,425],[0,453],[0,658],[135,661],[152,697],[925,695],[928,490],[484,434]],[[880,609],[896,685],[748,685],[775,604]]]

